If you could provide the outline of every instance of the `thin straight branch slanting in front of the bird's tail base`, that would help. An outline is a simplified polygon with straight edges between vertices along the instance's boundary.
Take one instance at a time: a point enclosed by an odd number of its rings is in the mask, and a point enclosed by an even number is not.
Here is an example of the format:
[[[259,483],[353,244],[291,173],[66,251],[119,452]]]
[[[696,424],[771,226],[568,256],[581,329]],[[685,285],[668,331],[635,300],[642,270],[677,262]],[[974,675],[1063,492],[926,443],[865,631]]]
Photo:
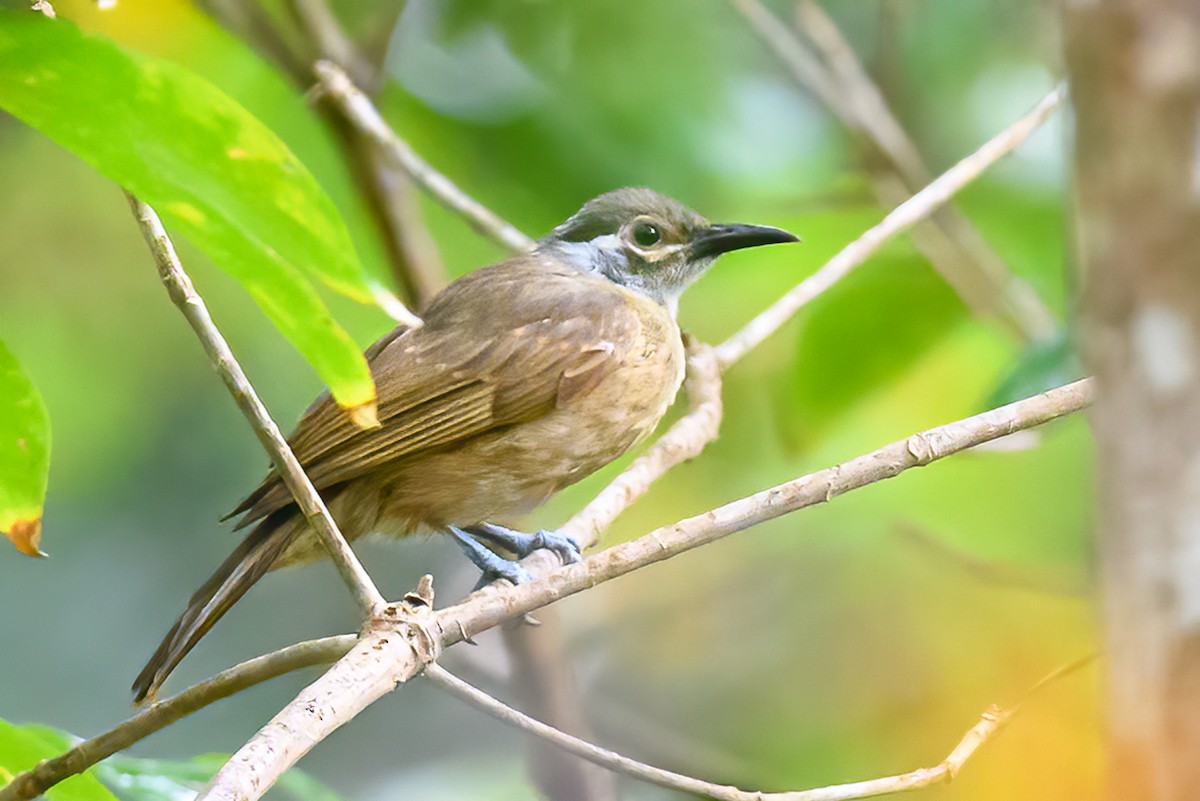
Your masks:
[[[229,343],[226,342],[224,337],[221,336],[221,331],[217,330],[216,324],[212,323],[204,300],[196,293],[196,288],[192,287],[192,279],[184,271],[184,265],[180,264],[179,257],[175,255],[175,246],[172,245],[167,230],[162,227],[162,221],[158,219],[158,215],[155,213],[154,209],[132,194],[126,193],[126,197],[130,200],[130,206],[133,209],[133,216],[137,217],[138,225],[142,228],[142,235],[150,247],[155,264],[158,266],[158,276],[167,287],[167,294],[170,295],[170,300],[174,301],[179,311],[187,318],[187,323],[192,326],[196,336],[200,339],[200,344],[204,347],[204,353],[208,354],[209,360],[212,362],[212,368],[221,377],[221,380],[224,381],[238,408],[246,415],[246,420],[250,422],[250,427],[254,429],[258,441],[262,442],[263,447],[271,456],[275,469],[278,470],[283,483],[292,492],[292,496],[295,498],[296,505],[304,512],[308,524],[320,536],[322,542],[325,543],[334,565],[337,566],[337,572],[342,574],[342,579],[354,594],[354,600],[358,602],[364,618],[370,618],[386,602],[371,580],[371,577],[367,576],[362,564],[359,562],[358,556],[350,550],[342,532],[337,529],[337,524],[334,523],[329,510],[325,508],[325,502],[317,494],[312,482],[308,481],[304,468],[300,466],[300,462],[296,460],[283,434],[280,433],[278,426],[271,420],[266,406],[258,398],[250,379],[246,378],[246,373],[241,369],[241,365],[234,357],[233,351],[229,349]]]

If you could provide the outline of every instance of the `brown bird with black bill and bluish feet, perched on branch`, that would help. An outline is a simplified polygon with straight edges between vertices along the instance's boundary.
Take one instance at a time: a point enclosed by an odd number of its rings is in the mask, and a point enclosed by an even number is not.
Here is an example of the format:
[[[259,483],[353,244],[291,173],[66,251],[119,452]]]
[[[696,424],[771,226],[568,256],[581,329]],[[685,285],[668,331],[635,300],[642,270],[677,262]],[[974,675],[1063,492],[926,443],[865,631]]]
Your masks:
[[[794,241],[713,224],[648,188],[601,194],[365,351],[379,426],[360,428],[325,392],[288,444],[348,540],[442,531],[485,578],[512,583],[536,548],[576,561],[572,540],[509,525],[655,428],[684,377],[679,296],[719,255]],[[253,528],[162,639],[136,701],[268,571],[326,555],[277,471],[223,519],[238,516]]]

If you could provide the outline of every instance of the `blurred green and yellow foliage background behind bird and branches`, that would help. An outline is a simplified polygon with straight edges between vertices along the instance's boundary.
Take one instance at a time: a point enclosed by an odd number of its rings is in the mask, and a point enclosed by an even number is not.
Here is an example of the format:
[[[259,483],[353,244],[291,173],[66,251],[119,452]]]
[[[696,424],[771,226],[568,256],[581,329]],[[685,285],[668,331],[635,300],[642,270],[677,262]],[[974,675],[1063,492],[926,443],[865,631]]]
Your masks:
[[[264,120],[338,203],[368,270],[388,277],[332,135],[274,66],[186,0],[54,5],[85,30],[194,70]],[[803,246],[727,257],[690,290],[682,321],[706,341],[732,333],[886,211],[841,126],[725,2],[334,7],[352,32],[386,44],[380,104],[397,131],[533,236],[623,185],[652,186],[714,219],[800,234]],[[937,171],[1055,82],[1052,4],[824,7]],[[788,2],[772,8],[790,19]],[[1051,120],[960,207],[1067,329],[1064,125]],[[52,558],[0,549],[0,717],[86,736],[130,712],[133,675],[234,544],[216,519],[266,464],[167,301],[120,189],[7,116],[0,176],[0,338],[32,374],[54,427],[43,541]],[[422,207],[454,275],[504,255],[434,204]],[[311,368],[228,276],[179,245],[259,392],[289,424],[320,389]],[[326,297],[362,345],[390,327],[373,307]],[[1030,361],[896,241],[727,373],[721,439],[606,541],[980,411],[1004,387],[1038,389],[1022,383]],[[598,739],[664,767],[770,790],[938,761],[989,704],[1015,700],[1093,643],[1086,424],[1069,420],[1019,445],[906,474],[559,604]],[[618,468],[529,525],[565,519]],[[390,597],[425,572],[437,577],[439,603],[474,583],[440,538],[361,550]],[[272,574],[168,689],[354,626],[329,565]],[[455,658],[505,693],[496,633]],[[228,752],[306,677],[220,703],[133,754]],[[1046,689],[953,785],[925,795],[1087,797],[1100,755],[1094,682],[1090,670]],[[415,682],[304,767],[347,797],[518,799],[530,794],[523,752],[521,735]],[[623,790],[670,796],[632,782]]]

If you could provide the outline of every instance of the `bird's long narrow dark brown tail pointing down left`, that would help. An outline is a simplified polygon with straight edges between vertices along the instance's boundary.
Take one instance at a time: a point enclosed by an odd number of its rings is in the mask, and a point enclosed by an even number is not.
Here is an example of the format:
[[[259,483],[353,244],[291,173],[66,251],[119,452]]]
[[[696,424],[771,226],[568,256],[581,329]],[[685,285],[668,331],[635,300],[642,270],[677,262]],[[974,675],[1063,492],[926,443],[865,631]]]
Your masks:
[[[295,508],[289,507],[266,516],[196,591],[133,681],[136,703],[152,698],[180,660],[271,568],[298,531],[298,526],[288,525],[294,514]]]

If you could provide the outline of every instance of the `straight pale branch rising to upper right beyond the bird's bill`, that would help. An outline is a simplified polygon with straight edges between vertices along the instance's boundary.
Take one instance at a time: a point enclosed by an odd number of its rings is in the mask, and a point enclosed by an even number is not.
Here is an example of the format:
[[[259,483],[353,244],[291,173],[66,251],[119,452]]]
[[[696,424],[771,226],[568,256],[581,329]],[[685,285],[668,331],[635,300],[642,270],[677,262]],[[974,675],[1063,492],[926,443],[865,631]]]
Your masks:
[[[721,343],[716,348],[721,367],[728,367],[739,360],[746,351],[779,330],[809,301],[863,264],[888,239],[928,217],[959,189],[978,177],[980,173],[1015,150],[1062,104],[1066,94],[1063,86],[1051,91],[1033,107],[1033,110],[989,139],[979,150],[942,173],[924,189],[893,209],[878,224],[844,247],[824,266]]]

